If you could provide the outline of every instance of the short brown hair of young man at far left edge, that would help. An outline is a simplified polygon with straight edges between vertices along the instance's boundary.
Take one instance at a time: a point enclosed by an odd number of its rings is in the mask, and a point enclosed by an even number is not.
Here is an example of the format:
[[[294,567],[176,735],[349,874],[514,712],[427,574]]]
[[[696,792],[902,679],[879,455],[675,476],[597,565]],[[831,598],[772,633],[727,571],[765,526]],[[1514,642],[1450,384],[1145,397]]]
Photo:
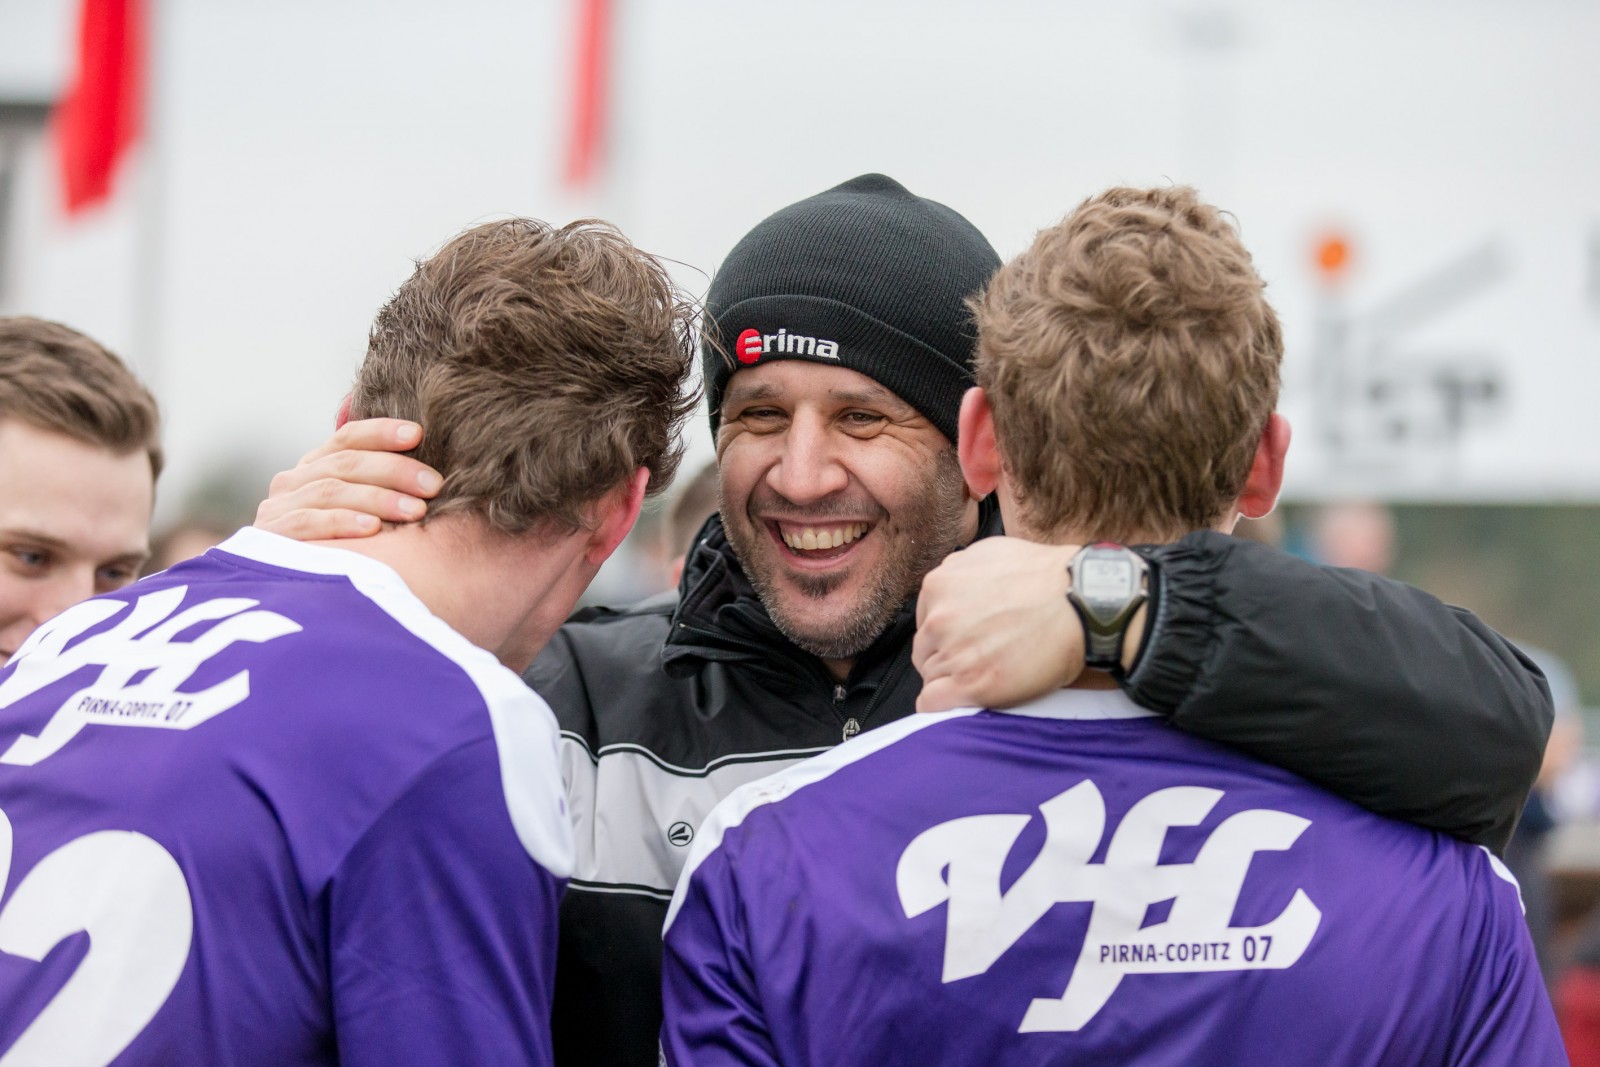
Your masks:
[[[43,318],[0,317],[0,419],[66,434],[120,456],[144,451],[158,478],[155,397],[98,341]]]

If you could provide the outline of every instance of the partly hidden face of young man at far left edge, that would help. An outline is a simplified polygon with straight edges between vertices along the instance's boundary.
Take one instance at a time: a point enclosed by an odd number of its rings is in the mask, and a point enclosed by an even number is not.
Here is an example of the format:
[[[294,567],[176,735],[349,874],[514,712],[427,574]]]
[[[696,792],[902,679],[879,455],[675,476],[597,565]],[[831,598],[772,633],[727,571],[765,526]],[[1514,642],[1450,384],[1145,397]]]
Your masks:
[[[0,665],[46,619],[139,576],[154,506],[144,450],[0,419]]]

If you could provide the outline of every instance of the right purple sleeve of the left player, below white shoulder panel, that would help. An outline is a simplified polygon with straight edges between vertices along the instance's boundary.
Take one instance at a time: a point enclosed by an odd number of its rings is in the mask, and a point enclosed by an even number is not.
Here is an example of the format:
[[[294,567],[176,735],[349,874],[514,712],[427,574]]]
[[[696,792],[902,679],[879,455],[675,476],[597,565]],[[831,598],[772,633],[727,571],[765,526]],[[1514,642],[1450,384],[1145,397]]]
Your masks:
[[[330,885],[339,1062],[549,1064],[562,888],[518,841],[491,739],[434,761]]]

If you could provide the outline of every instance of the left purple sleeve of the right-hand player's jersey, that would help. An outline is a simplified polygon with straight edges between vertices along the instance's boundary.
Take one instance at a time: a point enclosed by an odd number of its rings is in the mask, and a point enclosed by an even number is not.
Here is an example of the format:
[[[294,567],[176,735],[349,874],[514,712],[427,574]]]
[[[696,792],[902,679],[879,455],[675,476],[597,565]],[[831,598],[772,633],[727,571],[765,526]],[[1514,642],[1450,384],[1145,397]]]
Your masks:
[[[726,849],[683,875],[662,955],[661,1054],[674,1067],[778,1067]]]

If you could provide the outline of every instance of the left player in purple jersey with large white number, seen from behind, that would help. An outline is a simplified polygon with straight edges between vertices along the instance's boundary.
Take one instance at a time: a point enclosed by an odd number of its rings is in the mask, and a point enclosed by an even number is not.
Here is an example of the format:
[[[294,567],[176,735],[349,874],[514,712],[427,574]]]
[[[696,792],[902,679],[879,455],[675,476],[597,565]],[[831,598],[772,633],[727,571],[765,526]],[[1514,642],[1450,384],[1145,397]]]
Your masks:
[[[245,528],[34,632],[0,672],[0,1061],[550,1062],[573,825],[515,672],[670,482],[691,322],[606,224],[474,227],[350,400],[429,421],[426,523]]]

